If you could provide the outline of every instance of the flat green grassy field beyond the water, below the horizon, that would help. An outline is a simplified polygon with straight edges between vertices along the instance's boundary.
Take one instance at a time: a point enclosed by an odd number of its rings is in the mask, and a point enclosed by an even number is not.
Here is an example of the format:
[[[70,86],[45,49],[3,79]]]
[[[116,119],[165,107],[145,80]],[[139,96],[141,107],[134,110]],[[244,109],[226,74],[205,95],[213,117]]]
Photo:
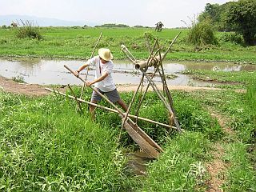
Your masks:
[[[172,39],[182,31],[167,59],[171,60],[209,60],[256,62],[255,46],[243,47],[231,42],[222,42],[216,46],[194,47],[186,43],[188,30],[164,29],[161,33],[151,28],[64,28],[43,27],[42,40],[15,36],[14,29],[0,29],[0,56],[30,56],[43,58],[89,58],[99,34],[102,41],[99,47],[109,47],[114,58],[126,58],[120,46],[126,45],[136,58],[147,58],[145,34],[150,36],[150,42],[158,38],[164,50]],[[222,33],[218,33],[221,37]]]

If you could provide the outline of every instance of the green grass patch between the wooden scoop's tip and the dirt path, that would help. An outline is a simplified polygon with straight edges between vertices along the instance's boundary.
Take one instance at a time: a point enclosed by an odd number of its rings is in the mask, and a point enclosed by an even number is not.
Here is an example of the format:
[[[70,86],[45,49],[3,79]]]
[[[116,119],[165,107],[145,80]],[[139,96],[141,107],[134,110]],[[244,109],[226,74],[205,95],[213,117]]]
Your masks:
[[[166,152],[150,164],[148,177],[138,191],[196,191],[204,188],[210,142],[203,134],[186,133],[166,142]],[[143,178],[144,179],[144,178]]]

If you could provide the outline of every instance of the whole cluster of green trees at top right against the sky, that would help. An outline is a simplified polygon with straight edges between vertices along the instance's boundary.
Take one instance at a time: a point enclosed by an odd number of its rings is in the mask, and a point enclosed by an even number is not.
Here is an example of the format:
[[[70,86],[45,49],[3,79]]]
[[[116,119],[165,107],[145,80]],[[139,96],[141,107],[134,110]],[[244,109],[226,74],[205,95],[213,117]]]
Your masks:
[[[210,22],[215,30],[242,34],[248,45],[256,45],[256,1],[238,0],[225,4],[207,3],[198,16],[199,22]]]

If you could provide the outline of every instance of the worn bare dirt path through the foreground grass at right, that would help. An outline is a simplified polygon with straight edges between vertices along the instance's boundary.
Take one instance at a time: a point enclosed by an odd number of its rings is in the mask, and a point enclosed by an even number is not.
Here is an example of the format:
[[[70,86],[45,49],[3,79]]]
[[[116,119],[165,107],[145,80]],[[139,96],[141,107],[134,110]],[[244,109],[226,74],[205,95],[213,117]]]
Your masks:
[[[226,126],[228,119],[221,114],[214,112],[211,108],[208,108],[208,110],[210,110],[213,118],[217,118],[224,133],[228,136],[234,136],[234,131],[231,130],[229,126]],[[206,164],[206,169],[210,174],[210,179],[207,182],[207,185],[209,186],[209,190],[206,190],[207,192],[223,191],[222,184],[226,181],[226,170],[229,167],[229,164],[222,159],[224,154],[225,150],[222,146],[222,142],[216,142],[212,151],[214,159],[212,162]]]

